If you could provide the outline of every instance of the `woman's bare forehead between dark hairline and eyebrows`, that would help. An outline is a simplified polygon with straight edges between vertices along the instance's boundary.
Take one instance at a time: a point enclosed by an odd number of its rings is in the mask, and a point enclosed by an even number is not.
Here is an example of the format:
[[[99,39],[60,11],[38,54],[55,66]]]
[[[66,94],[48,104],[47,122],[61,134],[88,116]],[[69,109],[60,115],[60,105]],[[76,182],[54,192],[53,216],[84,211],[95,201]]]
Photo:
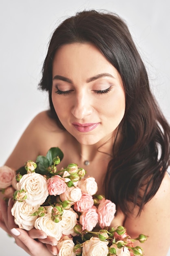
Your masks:
[[[116,68],[91,43],[63,45],[54,56],[53,76],[81,76],[81,78],[87,79],[100,73],[111,73],[113,76],[120,76]]]

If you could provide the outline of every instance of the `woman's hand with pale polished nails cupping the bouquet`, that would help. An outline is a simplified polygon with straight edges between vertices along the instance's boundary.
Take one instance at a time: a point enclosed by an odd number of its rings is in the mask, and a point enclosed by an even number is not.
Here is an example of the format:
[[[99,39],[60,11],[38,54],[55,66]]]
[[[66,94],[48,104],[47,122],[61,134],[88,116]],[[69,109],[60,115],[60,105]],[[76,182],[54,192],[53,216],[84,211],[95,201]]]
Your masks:
[[[11,215],[11,208],[13,201],[9,200],[9,206],[7,207],[4,200],[0,200],[1,206],[1,218],[0,227],[4,229],[10,236],[15,238],[15,242],[18,246],[24,249],[31,256],[51,256],[57,255],[57,240],[50,236],[46,236],[44,231],[32,229],[25,231],[19,229],[14,223],[14,218]],[[36,240],[35,240],[36,238]]]

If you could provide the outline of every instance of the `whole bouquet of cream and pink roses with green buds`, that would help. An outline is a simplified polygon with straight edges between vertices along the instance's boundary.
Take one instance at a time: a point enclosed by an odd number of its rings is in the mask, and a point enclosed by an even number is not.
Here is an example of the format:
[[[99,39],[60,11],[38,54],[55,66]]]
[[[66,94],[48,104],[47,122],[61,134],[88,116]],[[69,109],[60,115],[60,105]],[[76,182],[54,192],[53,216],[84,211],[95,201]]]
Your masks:
[[[22,229],[43,230],[57,239],[60,256],[143,255],[133,246],[147,236],[132,239],[122,226],[112,227],[116,206],[103,195],[97,195],[93,177],[78,164],[57,170],[63,158],[59,148],[50,148],[46,157],[29,160],[17,171],[0,167],[0,189],[4,198],[13,194],[11,209],[15,223]],[[96,225],[98,231],[94,231]]]

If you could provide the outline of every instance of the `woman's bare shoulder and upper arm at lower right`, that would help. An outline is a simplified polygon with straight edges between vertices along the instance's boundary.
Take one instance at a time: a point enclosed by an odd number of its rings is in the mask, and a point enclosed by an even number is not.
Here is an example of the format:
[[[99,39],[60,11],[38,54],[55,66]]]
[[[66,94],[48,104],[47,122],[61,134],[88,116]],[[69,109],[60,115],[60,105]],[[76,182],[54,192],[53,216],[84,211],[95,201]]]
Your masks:
[[[124,226],[133,238],[139,234],[148,235],[142,244],[145,256],[166,256],[170,247],[170,175],[165,174],[155,196],[144,206],[140,216],[138,209],[126,218]]]

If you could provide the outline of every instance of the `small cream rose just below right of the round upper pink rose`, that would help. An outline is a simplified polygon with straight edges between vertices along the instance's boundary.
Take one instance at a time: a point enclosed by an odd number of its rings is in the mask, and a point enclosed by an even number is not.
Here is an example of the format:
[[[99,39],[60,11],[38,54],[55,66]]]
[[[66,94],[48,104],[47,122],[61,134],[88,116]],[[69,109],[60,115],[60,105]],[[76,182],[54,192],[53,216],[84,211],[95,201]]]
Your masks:
[[[71,188],[67,187],[66,191],[60,195],[60,199],[61,201],[70,200],[74,203],[81,199],[81,195],[81,189],[72,186]]]

